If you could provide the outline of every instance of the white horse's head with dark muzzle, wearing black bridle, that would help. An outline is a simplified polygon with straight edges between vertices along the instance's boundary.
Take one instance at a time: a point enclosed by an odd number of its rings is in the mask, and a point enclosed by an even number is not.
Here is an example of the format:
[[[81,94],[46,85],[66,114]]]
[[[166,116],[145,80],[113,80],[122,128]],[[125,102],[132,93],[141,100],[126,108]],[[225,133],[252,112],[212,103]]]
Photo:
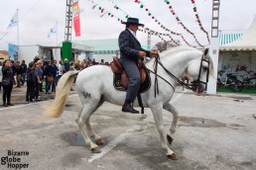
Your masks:
[[[209,72],[213,71],[212,61],[207,54],[208,48],[204,50],[201,57],[193,59],[187,68],[187,76],[190,80],[192,91],[196,95],[200,95],[206,90]]]

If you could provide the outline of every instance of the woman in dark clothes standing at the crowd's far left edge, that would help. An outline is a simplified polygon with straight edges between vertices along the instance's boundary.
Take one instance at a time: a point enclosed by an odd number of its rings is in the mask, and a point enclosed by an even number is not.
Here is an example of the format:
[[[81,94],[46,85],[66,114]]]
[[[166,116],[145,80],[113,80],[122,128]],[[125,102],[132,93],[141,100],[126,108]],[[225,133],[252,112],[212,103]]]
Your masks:
[[[4,62],[2,68],[3,78],[2,78],[2,86],[3,86],[3,106],[13,106],[11,103],[11,94],[13,90],[13,85],[15,84],[14,73],[12,70],[12,62],[10,60],[6,60]]]

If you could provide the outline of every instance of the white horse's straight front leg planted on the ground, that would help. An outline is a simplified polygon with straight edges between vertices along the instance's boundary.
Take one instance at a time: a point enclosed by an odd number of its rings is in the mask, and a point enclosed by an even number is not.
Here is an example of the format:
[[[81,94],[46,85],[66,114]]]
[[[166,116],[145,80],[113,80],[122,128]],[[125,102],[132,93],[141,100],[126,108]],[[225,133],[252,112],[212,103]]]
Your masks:
[[[158,106],[154,105],[154,106],[150,106],[150,109],[153,113],[154,120],[155,120],[156,126],[157,126],[159,134],[160,134],[162,148],[164,150],[166,150],[166,154],[170,159],[177,159],[175,152],[173,150],[171,150],[167,145],[167,139],[165,137],[166,132],[165,132],[163,116],[162,116],[163,106],[162,105],[158,105]]]

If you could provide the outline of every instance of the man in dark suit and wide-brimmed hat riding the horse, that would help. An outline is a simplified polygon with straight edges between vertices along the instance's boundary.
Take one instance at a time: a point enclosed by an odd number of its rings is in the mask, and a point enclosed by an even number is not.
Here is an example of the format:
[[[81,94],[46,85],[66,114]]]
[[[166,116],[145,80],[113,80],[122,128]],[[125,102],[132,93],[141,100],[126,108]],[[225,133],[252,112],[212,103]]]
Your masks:
[[[144,25],[139,23],[139,19],[128,18],[127,22],[122,22],[122,24],[126,25],[126,29],[119,35],[118,39],[121,55],[120,62],[129,78],[127,94],[125,103],[122,107],[122,112],[138,114],[139,111],[133,109],[132,106],[141,83],[137,62],[139,59],[143,59],[146,56],[156,55],[158,52],[157,50],[145,50],[141,47],[141,43],[136,38],[136,32],[138,31],[139,26]]]

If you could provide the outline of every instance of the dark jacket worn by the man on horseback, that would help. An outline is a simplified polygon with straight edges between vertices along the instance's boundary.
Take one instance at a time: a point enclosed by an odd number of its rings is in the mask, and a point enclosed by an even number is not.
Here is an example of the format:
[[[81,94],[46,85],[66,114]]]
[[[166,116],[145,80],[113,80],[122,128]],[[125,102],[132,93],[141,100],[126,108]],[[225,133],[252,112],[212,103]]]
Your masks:
[[[120,47],[121,63],[125,60],[133,60],[137,62],[140,58],[139,50],[145,51],[146,55],[150,56],[150,51],[143,49],[141,43],[134,38],[128,29],[120,34],[118,43]]]

